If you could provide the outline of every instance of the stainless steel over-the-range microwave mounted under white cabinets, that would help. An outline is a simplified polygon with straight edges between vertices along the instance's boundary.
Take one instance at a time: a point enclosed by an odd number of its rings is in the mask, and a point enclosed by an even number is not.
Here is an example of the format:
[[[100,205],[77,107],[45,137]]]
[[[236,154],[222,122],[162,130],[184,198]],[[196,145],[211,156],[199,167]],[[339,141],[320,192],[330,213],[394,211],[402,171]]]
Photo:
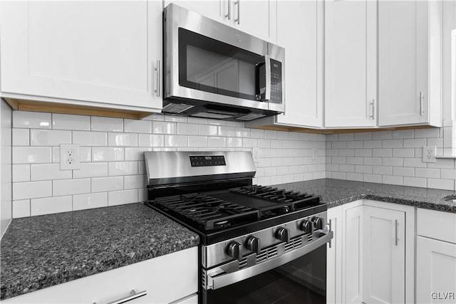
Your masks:
[[[284,112],[285,50],[170,4],[162,112],[248,121]]]

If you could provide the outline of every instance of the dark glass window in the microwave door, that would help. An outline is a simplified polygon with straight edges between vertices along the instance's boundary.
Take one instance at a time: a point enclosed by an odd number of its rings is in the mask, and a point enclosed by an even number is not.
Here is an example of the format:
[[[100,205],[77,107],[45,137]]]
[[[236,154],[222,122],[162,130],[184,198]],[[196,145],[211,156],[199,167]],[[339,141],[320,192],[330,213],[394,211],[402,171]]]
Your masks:
[[[247,100],[264,87],[264,57],[179,28],[179,84]],[[259,79],[261,75],[261,79]]]

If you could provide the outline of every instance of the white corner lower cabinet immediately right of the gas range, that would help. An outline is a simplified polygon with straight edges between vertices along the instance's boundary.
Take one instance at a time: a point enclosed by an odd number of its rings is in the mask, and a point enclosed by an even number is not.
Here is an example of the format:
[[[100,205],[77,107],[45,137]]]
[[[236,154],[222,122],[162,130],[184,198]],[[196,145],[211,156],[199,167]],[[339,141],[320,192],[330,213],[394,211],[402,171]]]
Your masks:
[[[363,199],[328,209],[328,219],[327,303],[414,302],[413,206]]]

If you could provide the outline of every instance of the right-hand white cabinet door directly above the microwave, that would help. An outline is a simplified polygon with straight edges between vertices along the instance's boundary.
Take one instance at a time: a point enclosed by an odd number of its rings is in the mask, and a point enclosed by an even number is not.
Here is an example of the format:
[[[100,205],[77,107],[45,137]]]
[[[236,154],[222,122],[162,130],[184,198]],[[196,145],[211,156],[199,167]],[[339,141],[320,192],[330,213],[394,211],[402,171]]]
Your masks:
[[[277,0],[228,0],[234,28],[276,44]]]

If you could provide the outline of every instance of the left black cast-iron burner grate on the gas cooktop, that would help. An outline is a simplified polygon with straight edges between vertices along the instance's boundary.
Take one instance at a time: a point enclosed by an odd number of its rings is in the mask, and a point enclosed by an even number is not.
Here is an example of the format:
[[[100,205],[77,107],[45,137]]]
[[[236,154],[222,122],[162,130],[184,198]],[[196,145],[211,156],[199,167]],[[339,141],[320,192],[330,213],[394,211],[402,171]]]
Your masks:
[[[161,197],[155,199],[155,204],[185,216],[205,230],[257,221],[260,217],[258,210],[199,193]]]

